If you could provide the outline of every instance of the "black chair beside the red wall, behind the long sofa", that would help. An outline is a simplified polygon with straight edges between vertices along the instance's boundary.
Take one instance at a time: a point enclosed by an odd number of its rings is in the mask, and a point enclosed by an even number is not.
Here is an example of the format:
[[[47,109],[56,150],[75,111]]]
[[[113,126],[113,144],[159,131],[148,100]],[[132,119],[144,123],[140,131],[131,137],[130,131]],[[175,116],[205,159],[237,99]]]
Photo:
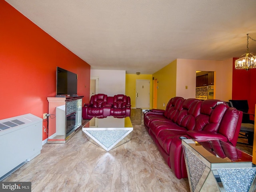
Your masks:
[[[229,100],[229,105],[231,107],[236,108],[243,112],[242,124],[240,129],[239,138],[246,138],[248,139],[248,145],[253,145],[253,136],[254,136],[254,120],[250,120],[250,115],[253,116],[254,114],[248,114],[249,105],[247,100]],[[246,144],[241,143],[240,144]]]

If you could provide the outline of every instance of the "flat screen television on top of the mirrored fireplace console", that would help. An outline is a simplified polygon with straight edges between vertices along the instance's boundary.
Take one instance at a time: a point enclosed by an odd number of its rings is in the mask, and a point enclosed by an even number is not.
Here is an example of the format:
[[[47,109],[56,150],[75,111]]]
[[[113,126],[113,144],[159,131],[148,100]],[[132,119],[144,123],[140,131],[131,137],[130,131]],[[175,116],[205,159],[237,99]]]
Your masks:
[[[56,95],[76,95],[77,94],[77,74],[57,67],[56,72]]]

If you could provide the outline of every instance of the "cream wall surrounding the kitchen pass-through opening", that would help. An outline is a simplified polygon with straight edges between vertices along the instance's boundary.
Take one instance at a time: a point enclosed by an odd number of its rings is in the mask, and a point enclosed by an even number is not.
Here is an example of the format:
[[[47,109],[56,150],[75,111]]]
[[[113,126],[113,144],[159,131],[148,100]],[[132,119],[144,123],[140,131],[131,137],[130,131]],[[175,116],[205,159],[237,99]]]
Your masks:
[[[215,71],[215,99],[232,99],[232,67],[232,58],[224,61],[177,59],[176,96],[194,98],[196,71]]]

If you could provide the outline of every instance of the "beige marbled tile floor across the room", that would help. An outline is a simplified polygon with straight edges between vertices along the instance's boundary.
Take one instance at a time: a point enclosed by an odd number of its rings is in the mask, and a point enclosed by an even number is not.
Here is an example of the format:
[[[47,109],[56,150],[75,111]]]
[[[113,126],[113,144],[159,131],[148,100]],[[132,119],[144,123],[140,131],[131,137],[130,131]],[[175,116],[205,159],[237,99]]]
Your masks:
[[[109,152],[82,130],[65,144],[44,144],[41,154],[3,181],[32,182],[32,192],[188,192],[177,179],[132,109],[132,139]],[[241,148],[243,145],[241,146]]]

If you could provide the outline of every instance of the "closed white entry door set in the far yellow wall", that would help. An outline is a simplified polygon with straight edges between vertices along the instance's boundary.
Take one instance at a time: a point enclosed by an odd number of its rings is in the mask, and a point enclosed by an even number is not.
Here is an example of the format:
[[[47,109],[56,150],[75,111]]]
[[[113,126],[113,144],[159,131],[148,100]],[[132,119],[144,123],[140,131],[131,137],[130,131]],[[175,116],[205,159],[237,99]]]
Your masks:
[[[136,80],[136,108],[149,108],[150,80]]]

